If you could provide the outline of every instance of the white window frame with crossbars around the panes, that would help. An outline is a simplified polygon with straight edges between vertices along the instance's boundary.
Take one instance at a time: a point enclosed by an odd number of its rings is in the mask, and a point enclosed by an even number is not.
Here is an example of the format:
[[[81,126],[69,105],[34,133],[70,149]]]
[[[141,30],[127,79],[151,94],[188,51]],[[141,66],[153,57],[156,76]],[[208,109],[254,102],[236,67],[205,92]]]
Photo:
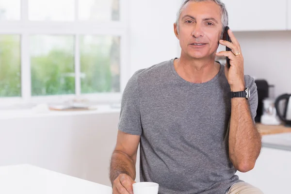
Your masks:
[[[86,98],[97,103],[118,103],[129,79],[129,0],[120,0],[120,21],[78,21],[78,2],[74,0],[75,21],[30,21],[28,0],[21,0],[20,21],[0,21],[0,34],[21,36],[21,97],[0,97],[0,107],[14,104],[62,102],[74,97]],[[75,94],[32,97],[29,36],[33,34],[66,34],[75,36]],[[79,37],[86,35],[120,36],[120,92],[81,94]]]

